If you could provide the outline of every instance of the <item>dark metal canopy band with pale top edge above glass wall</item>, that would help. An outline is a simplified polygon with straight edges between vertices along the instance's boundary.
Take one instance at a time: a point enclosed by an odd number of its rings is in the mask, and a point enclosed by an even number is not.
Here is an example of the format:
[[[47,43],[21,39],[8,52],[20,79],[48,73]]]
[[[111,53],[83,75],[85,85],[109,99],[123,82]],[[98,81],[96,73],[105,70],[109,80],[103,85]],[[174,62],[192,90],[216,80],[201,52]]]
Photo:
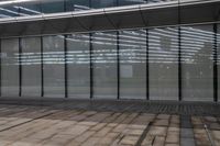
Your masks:
[[[217,22],[220,0],[188,0],[0,20],[0,37]]]

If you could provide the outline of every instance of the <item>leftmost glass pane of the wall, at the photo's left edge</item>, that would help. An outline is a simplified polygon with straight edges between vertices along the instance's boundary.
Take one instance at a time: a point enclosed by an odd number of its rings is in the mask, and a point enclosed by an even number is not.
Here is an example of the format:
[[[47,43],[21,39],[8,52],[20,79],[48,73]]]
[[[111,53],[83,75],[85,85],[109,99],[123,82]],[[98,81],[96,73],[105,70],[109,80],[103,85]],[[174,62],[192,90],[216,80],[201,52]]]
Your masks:
[[[19,96],[19,40],[1,41],[1,93],[2,97]]]

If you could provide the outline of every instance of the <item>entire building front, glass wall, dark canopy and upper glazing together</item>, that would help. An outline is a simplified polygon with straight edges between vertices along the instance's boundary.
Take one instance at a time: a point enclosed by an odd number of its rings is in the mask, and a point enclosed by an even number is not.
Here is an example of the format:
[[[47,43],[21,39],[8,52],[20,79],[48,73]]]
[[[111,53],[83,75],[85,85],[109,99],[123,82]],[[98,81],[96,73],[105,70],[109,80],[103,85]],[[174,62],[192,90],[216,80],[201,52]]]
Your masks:
[[[0,94],[218,102],[219,5],[215,0],[1,1]],[[206,11],[213,8],[216,13]]]

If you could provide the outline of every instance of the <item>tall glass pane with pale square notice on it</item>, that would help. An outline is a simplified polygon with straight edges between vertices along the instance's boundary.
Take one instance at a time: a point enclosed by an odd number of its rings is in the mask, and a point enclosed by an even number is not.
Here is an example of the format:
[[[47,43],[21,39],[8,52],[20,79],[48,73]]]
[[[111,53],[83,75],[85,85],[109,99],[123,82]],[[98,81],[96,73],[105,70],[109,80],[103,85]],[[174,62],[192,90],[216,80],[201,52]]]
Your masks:
[[[146,32],[122,31],[120,45],[120,98],[146,99]]]

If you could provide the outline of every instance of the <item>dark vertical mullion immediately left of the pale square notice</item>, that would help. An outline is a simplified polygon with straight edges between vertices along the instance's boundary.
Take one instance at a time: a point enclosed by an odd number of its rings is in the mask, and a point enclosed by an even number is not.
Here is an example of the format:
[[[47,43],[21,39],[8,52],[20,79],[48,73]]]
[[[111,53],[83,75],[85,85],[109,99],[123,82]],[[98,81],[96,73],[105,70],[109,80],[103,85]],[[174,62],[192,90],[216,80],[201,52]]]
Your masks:
[[[117,31],[117,99],[120,99],[120,42],[119,31]]]

